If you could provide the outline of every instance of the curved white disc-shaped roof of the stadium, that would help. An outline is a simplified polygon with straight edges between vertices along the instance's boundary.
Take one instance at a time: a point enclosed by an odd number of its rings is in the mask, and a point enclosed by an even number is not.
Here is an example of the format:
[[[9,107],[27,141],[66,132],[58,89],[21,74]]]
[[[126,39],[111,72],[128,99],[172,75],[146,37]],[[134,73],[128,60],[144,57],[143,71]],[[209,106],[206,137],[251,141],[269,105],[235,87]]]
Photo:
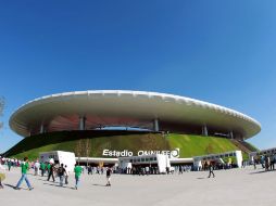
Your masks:
[[[159,119],[168,126],[208,126],[250,138],[261,130],[253,118],[216,104],[158,92],[89,90],[64,92],[35,99],[22,105],[10,118],[10,127],[21,136],[38,131],[77,129],[78,117],[86,116],[90,128],[127,126],[147,128]],[[89,127],[88,127],[89,128]]]

